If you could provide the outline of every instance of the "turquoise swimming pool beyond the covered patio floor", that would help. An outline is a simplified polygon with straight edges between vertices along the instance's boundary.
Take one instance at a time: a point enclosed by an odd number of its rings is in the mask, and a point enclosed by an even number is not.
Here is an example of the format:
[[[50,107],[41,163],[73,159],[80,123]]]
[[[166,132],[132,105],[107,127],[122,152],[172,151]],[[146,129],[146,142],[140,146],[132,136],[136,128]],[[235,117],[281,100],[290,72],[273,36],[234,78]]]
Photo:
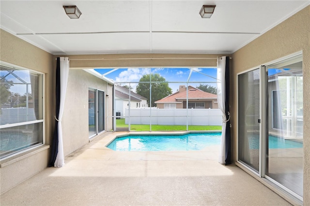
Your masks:
[[[189,151],[219,145],[221,133],[135,135],[115,138],[107,147],[116,151]]]

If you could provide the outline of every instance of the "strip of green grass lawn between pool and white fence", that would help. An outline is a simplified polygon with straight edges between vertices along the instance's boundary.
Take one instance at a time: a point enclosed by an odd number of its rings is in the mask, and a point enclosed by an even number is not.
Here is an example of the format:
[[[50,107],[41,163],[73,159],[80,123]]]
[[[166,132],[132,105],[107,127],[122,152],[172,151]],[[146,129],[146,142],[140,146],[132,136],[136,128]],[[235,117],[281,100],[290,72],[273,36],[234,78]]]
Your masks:
[[[116,119],[116,127],[128,127],[125,119]],[[131,124],[131,131],[150,131],[150,125]],[[189,131],[222,130],[222,126],[188,125]],[[152,131],[186,131],[186,125],[152,125]]]

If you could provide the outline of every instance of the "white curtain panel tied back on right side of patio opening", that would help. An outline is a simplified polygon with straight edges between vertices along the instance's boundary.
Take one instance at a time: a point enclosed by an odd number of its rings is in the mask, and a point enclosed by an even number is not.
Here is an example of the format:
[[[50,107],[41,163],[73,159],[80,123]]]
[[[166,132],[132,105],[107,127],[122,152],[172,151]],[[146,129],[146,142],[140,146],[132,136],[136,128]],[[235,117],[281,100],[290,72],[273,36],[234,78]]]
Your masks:
[[[222,124],[222,136],[221,136],[221,147],[218,157],[218,162],[225,164],[225,132],[226,132],[226,114],[225,114],[225,67],[226,57],[217,58],[217,104],[222,112],[223,124]]]

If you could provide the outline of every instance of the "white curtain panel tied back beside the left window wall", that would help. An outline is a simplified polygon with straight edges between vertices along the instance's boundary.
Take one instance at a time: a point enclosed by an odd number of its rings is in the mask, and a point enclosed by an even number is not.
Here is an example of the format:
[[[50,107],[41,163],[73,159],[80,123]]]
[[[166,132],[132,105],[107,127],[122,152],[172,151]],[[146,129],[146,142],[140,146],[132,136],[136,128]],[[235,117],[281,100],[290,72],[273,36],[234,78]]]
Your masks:
[[[54,163],[55,167],[62,167],[64,165],[63,142],[62,142],[62,113],[64,107],[64,99],[66,96],[67,83],[69,76],[69,58],[60,58],[60,105],[58,117],[58,154]]]

